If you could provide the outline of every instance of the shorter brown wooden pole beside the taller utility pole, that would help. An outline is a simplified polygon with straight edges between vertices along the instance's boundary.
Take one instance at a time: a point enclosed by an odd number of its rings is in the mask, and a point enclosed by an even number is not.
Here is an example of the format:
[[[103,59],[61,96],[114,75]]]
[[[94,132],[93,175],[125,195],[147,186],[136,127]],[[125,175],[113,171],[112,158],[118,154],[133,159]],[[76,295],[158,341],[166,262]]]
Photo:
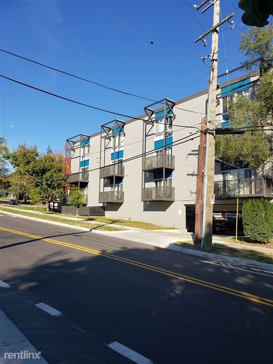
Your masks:
[[[206,158],[206,130],[207,117],[201,122],[201,134],[198,154],[197,186],[196,186],[196,204],[195,204],[195,239],[194,247],[201,248],[202,241],[202,221],[203,221],[203,198],[204,198],[204,171]]]

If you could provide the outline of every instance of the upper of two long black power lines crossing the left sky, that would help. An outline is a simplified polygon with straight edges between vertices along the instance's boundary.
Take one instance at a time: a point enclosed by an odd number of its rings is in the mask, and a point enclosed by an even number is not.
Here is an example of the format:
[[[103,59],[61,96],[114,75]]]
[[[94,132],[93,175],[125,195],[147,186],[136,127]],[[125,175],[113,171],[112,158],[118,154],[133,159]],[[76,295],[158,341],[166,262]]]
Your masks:
[[[93,83],[93,84],[95,84],[95,85],[97,85],[97,86],[100,86],[100,87],[107,88],[107,89],[109,89],[109,90],[111,90],[111,91],[115,91],[115,92],[120,93],[120,94],[123,94],[123,95],[128,95],[128,96],[136,97],[136,98],[143,99],[143,100],[147,100],[147,101],[157,102],[156,100],[148,99],[148,98],[143,97],[143,96],[140,96],[140,95],[131,94],[131,93],[128,93],[128,92],[125,92],[125,91],[119,90],[119,89],[117,89],[117,88],[109,87],[109,86],[106,86],[106,85],[104,85],[104,84],[102,84],[102,83],[98,83],[98,82],[95,82],[95,81],[89,80],[89,79],[87,79],[87,78],[77,76],[77,75],[75,75],[75,74],[73,74],[73,73],[66,72],[66,71],[60,70],[60,69],[58,69],[58,68],[48,66],[48,65],[46,65],[46,64],[44,64],[44,63],[37,62],[37,61],[34,61],[34,60],[30,59],[30,58],[26,58],[26,57],[23,57],[23,56],[19,56],[19,55],[15,54],[15,53],[12,53],[12,52],[9,52],[9,51],[3,50],[3,49],[0,49],[0,51],[1,51],[1,52],[4,52],[4,53],[7,53],[7,54],[9,54],[9,55],[11,55],[11,56],[14,56],[14,57],[17,57],[17,58],[23,59],[23,60],[25,60],[25,61],[28,61],[28,62],[31,62],[31,63],[37,64],[37,65],[39,65],[39,66],[42,66],[42,67],[45,67],[45,68],[51,69],[51,70],[53,70],[53,71],[63,73],[63,74],[65,74],[65,75],[67,75],[67,76],[74,77],[74,78],[76,78],[76,79],[79,79],[79,80],[82,80],[82,81],[85,81],[85,82]],[[163,103],[162,103],[162,104],[163,104]],[[181,109],[181,108],[178,108],[177,106],[176,106],[176,108],[177,108],[177,109],[179,109],[179,110],[188,111],[188,112],[192,112],[192,113],[195,113],[195,114],[202,114],[202,113],[198,113],[197,111],[193,111],[193,110]]]

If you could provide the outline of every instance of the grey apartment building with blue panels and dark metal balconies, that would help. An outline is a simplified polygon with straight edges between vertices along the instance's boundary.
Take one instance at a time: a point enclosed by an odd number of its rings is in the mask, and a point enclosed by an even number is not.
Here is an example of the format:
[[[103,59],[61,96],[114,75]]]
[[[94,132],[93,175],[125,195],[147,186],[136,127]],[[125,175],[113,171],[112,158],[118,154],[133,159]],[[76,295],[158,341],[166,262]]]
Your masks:
[[[219,126],[228,126],[231,100],[255,92],[258,74],[219,86]],[[84,191],[82,213],[103,211],[111,218],[186,229],[186,216],[195,209],[200,124],[206,108],[207,90],[176,102],[166,98],[145,106],[134,119],[112,120],[93,135],[69,138],[68,178]],[[259,170],[239,170],[216,160],[214,210],[236,210],[237,196],[240,206],[249,197],[270,198],[273,191],[266,181]]]

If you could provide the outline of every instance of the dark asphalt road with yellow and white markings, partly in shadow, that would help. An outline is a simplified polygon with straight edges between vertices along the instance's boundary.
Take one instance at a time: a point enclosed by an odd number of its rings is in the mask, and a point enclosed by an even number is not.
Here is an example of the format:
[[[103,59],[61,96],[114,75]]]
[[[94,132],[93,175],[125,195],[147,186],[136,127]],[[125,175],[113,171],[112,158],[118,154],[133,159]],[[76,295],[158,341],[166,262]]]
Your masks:
[[[50,364],[272,361],[268,275],[21,217],[0,229],[0,307]]]

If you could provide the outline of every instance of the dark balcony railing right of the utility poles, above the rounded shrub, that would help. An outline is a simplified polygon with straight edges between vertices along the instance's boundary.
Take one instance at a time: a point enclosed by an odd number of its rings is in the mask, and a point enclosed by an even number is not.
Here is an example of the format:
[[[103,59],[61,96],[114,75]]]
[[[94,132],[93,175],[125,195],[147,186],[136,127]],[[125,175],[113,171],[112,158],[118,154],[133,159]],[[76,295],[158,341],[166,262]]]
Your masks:
[[[237,196],[271,196],[269,183],[263,177],[216,181],[214,194],[218,199]]]

